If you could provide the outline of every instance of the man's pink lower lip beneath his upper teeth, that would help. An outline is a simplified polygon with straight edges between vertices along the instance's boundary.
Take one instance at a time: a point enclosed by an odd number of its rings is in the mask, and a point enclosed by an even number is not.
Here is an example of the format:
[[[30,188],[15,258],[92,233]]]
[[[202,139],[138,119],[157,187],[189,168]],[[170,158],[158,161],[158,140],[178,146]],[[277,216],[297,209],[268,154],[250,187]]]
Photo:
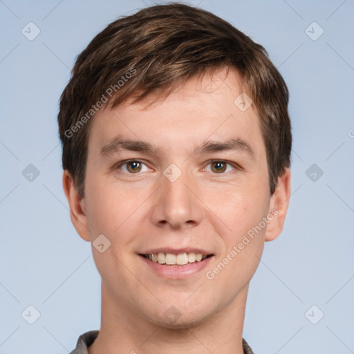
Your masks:
[[[203,270],[203,268],[205,268],[209,264],[211,259],[214,258],[214,256],[212,256],[203,259],[203,261],[187,263],[185,265],[165,265],[160,264],[158,262],[150,261],[150,259],[140,255],[139,257],[142,259],[142,261],[145,261],[145,263],[149,265],[149,267],[155,270],[155,272],[162,275],[162,277],[166,277],[169,279],[183,279],[191,276],[192,274],[196,274],[197,272]]]

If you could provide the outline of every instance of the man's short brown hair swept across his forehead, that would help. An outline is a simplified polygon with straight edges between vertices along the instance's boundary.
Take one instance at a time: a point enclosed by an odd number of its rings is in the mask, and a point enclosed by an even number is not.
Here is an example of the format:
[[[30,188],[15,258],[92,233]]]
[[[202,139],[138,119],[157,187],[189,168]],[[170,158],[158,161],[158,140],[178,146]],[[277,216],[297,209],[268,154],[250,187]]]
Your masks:
[[[288,88],[263,46],[206,10],[183,3],[144,8],[121,17],[96,35],[77,57],[60,97],[62,164],[84,197],[91,117],[102,103],[111,108],[161,93],[216,68],[236,69],[253,101],[267,153],[270,194],[290,167],[292,135]],[[114,93],[113,93],[114,91]],[[236,98],[236,97],[235,97]]]

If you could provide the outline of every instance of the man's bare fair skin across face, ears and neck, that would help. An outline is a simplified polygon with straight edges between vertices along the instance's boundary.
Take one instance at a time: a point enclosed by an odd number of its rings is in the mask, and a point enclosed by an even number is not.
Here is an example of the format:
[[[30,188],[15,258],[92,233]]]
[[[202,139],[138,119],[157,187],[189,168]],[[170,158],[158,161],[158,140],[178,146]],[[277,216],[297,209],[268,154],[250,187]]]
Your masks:
[[[240,77],[225,68],[214,76],[189,80],[164,101],[99,111],[88,141],[85,196],[80,198],[68,171],[63,186],[71,221],[82,239],[104,234],[105,252],[93,248],[102,277],[100,335],[88,348],[98,353],[243,353],[242,331],[248,285],[259,265],[265,241],[283,229],[290,198],[290,169],[269,192],[266,152],[259,118],[250,106],[234,104]],[[150,142],[157,155],[121,151],[100,156],[117,135]],[[205,140],[241,138],[254,150],[192,155]],[[137,159],[138,165],[118,162]],[[209,160],[227,160],[221,172]],[[171,182],[163,171],[174,163],[182,172]],[[241,166],[237,169],[232,163]],[[232,258],[214,279],[213,270],[262,218],[277,216]],[[138,256],[160,247],[212,251],[207,268],[186,279],[167,279]],[[171,306],[180,317],[164,315]]]

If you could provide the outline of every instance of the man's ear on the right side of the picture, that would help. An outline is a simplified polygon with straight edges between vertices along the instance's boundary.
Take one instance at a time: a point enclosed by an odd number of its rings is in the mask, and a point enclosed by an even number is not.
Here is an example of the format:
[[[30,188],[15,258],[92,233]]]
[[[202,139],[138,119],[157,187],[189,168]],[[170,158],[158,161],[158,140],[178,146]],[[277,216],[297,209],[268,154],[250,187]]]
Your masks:
[[[267,225],[267,229],[265,231],[265,241],[273,241],[274,239],[277,239],[283,230],[286,212],[288,212],[288,205],[290,201],[290,180],[291,173],[290,169],[287,168],[284,174],[279,177],[277,189],[275,189],[274,194],[270,198],[270,209],[268,215],[272,214],[273,218]]]

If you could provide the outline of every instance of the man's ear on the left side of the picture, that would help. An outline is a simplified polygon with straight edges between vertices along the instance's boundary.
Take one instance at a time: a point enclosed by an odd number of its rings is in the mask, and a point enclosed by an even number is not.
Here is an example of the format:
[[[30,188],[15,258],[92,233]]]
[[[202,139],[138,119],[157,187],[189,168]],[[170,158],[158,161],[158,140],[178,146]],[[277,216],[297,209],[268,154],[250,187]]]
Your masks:
[[[87,227],[86,205],[84,198],[77,192],[73,177],[68,170],[63,173],[63,188],[70,207],[70,218],[77,234],[85,241],[90,241]]]

